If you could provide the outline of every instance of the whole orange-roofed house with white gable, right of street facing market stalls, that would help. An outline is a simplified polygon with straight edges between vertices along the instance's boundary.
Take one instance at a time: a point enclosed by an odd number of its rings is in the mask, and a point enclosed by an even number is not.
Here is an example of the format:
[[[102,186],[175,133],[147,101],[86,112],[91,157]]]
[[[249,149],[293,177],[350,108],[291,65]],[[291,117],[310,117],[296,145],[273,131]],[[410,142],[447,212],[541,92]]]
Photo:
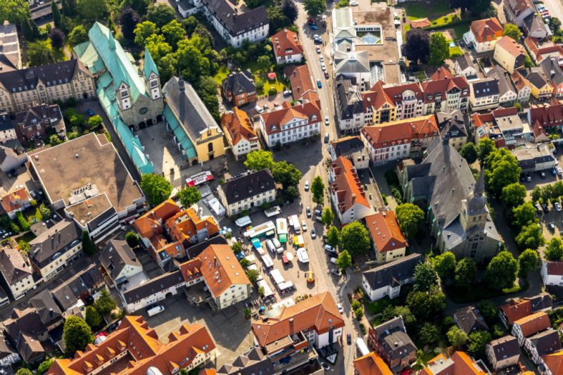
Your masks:
[[[352,162],[342,156],[329,168],[329,195],[342,225],[375,213],[367,201],[358,172]]]

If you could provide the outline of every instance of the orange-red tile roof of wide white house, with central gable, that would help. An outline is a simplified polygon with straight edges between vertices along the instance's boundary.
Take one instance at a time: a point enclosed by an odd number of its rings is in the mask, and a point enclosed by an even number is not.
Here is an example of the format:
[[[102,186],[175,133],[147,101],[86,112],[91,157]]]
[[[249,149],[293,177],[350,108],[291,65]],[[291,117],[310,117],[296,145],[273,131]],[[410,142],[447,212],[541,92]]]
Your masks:
[[[321,121],[320,101],[296,104],[293,107],[289,101],[284,101],[282,107],[279,110],[273,110],[260,115],[264,121],[266,134],[270,135],[281,132],[283,125],[296,118],[307,120],[305,125],[300,125],[301,127]]]

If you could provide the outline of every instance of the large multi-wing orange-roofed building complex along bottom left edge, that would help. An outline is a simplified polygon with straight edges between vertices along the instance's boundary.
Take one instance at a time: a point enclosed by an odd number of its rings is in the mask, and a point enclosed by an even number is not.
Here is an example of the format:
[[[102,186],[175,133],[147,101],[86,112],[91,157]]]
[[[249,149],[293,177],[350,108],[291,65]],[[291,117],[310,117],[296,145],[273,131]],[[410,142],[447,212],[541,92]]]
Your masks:
[[[176,374],[205,365],[216,355],[205,326],[184,323],[161,341],[143,317],[127,315],[106,340],[87,345],[72,358],[54,360],[46,374]]]

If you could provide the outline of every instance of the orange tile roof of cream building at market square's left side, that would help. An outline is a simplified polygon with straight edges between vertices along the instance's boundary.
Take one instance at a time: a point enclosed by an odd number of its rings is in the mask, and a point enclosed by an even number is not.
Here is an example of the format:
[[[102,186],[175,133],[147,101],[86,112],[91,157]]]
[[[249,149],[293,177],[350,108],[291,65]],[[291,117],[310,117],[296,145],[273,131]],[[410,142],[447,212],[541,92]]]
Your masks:
[[[215,298],[232,285],[251,284],[229,245],[210,245],[196,258],[179,265],[179,268],[186,281],[190,280],[190,275],[203,276]]]

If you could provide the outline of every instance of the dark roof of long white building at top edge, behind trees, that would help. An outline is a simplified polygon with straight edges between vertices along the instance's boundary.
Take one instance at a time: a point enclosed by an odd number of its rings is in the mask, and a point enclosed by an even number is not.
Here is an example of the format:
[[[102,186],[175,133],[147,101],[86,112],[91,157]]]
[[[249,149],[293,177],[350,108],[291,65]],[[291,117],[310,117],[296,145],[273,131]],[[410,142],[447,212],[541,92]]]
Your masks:
[[[232,36],[270,23],[265,6],[258,6],[245,13],[237,13],[233,9],[235,5],[230,5],[228,0],[203,0],[203,4],[220,20],[220,23],[229,30]]]

